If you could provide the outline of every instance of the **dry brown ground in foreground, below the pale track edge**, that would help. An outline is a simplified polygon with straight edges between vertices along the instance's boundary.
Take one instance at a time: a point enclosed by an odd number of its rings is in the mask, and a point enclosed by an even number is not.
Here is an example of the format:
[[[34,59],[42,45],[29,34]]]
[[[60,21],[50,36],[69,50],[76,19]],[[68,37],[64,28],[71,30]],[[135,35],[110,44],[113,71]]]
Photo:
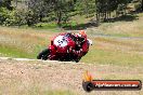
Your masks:
[[[18,95],[37,86],[39,92],[47,89],[70,90],[81,95],[143,95],[143,91],[95,91],[90,94],[82,90],[82,74],[89,70],[94,79],[141,79],[140,66],[93,65],[62,63],[26,58],[0,57],[0,93]],[[23,93],[25,95],[25,93]],[[42,93],[40,93],[42,94]]]

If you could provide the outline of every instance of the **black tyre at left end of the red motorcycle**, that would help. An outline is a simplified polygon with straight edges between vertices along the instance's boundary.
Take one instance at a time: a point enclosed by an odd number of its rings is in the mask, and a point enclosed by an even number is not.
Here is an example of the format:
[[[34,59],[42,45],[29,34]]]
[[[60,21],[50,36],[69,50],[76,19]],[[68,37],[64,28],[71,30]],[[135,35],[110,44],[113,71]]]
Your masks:
[[[43,50],[42,52],[40,52],[40,53],[38,54],[37,59],[43,59],[43,60],[47,60],[49,54],[50,54],[49,49],[46,49],[46,50]]]

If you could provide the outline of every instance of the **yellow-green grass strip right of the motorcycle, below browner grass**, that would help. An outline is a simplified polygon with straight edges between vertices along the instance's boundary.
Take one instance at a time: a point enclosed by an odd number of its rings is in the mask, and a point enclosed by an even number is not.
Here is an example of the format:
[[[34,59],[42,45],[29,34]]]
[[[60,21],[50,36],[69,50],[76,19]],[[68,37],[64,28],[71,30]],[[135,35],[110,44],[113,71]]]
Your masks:
[[[140,54],[123,53],[119,51],[90,50],[81,59],[83,63],[102,65],[142,65],[143,56]]]

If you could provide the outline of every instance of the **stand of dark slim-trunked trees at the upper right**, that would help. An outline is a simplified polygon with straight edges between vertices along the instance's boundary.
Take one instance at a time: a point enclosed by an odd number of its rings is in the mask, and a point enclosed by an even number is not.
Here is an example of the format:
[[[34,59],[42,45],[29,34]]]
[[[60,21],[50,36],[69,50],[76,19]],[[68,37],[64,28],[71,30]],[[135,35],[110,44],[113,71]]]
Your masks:
[[[131,0],[95,0],[96,21],[101,18],[104,21],[110,19],[110,13],[116,12],[116,17],[126,15],[127,4]]]

